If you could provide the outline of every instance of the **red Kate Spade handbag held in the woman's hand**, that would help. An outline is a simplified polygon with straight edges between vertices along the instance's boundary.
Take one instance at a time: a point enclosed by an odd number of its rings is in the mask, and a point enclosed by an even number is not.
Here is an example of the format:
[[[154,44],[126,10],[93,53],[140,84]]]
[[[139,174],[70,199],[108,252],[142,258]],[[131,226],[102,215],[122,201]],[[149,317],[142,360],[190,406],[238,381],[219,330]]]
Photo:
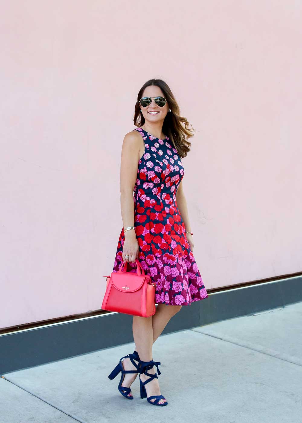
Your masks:
[[[102,310],[117,311],[133,316],[149,317],[155,314],[156,283],[145,275],[140,262],[135,260],[137,273],[127,272],[128,261],[118,272],[107,277],[107,288],[102,302]]]

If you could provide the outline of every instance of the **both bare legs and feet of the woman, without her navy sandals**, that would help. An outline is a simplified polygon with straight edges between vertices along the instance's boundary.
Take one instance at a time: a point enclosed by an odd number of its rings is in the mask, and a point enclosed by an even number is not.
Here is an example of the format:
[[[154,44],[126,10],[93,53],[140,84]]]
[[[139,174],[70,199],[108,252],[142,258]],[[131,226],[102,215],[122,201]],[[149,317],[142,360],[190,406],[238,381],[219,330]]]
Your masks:
[[[133,316],[133,338],[135,348],[140,356],[140,360],[152,360],[152,345],[165,329],[168,321],[181,309],[181,305],[165,305],[159,304],[156,313],[150,317]],[[125,370],[135,370],[129,358],[123,360]],[[155,374],[156,368],[148,370],[149,373]],[[125,374],[123,386],[130,386],[137,377],[137,374]],[[141,375],[142,382],[149,379],[145,374]],[[146,384],[147,396],[160,395],[158,379]],[[131,396],[132,393],[129,393]],[[152,402],[154,400],[151,400]],[[159,403],[165,402],[160,400]]]

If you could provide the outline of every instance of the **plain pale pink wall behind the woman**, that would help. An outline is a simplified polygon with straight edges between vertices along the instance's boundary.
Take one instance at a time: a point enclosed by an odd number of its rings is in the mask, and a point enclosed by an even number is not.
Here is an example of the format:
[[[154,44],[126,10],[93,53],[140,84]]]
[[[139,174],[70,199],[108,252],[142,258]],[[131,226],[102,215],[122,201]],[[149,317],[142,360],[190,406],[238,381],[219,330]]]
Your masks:
[[[3,2],[0,327],[101,308],[121,143],[164,79],[206,288],[302,271],[301,3]],[[147,28],[147,29],[144,29]]]

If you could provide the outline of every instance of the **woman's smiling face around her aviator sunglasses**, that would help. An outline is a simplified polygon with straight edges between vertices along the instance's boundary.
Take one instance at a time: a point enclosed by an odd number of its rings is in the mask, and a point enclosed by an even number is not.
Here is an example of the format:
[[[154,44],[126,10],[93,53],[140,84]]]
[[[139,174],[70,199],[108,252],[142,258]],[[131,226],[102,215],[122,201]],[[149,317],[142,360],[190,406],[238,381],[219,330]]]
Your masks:
[[[159,87],[150,85],[144,89],[142,97],[165,97],[165,95]],[[154,102],[154,99],[152,99],[151,103],[146,107],[142,107],[140,104],[140,108],[147,124],[159,123],[160,121],[163,122],[169,110],[167,102],[165,106],[160,107]]]

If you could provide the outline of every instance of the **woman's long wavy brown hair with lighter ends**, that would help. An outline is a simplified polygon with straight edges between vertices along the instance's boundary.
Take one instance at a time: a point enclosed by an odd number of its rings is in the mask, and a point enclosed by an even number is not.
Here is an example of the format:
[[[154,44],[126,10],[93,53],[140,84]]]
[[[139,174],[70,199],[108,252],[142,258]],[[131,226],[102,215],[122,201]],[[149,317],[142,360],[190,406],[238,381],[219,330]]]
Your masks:
[[[150,85],[156,85],[162,90],[162,93],[168,102],[169,108],[171,109],[171,111],[168,112],[165,117],[164,123],[162,125],[162,132],[170,138],[174,144],[174,147],[178,151],[178,155],[181,158],[186,157],[187,153],[190,151],[191,146],[191,143],[188,141],[188,139],[194,136],[194,134],[191,133],[194,131],[194,129],[189,129],[189,125],[191,124],[189,124],[187,118],[180,116],[180,110],[176,99],[165,81],[160,79],[151,79],[145,82],[142,88],[140,88],[140,91],[137,94],[133,122],[137,127],[143,126],[145,123],[143,113],[140,111],[140,99],[143,96],[145,88],[149,87]],[[184,124],[184,126],[182,124]]]

